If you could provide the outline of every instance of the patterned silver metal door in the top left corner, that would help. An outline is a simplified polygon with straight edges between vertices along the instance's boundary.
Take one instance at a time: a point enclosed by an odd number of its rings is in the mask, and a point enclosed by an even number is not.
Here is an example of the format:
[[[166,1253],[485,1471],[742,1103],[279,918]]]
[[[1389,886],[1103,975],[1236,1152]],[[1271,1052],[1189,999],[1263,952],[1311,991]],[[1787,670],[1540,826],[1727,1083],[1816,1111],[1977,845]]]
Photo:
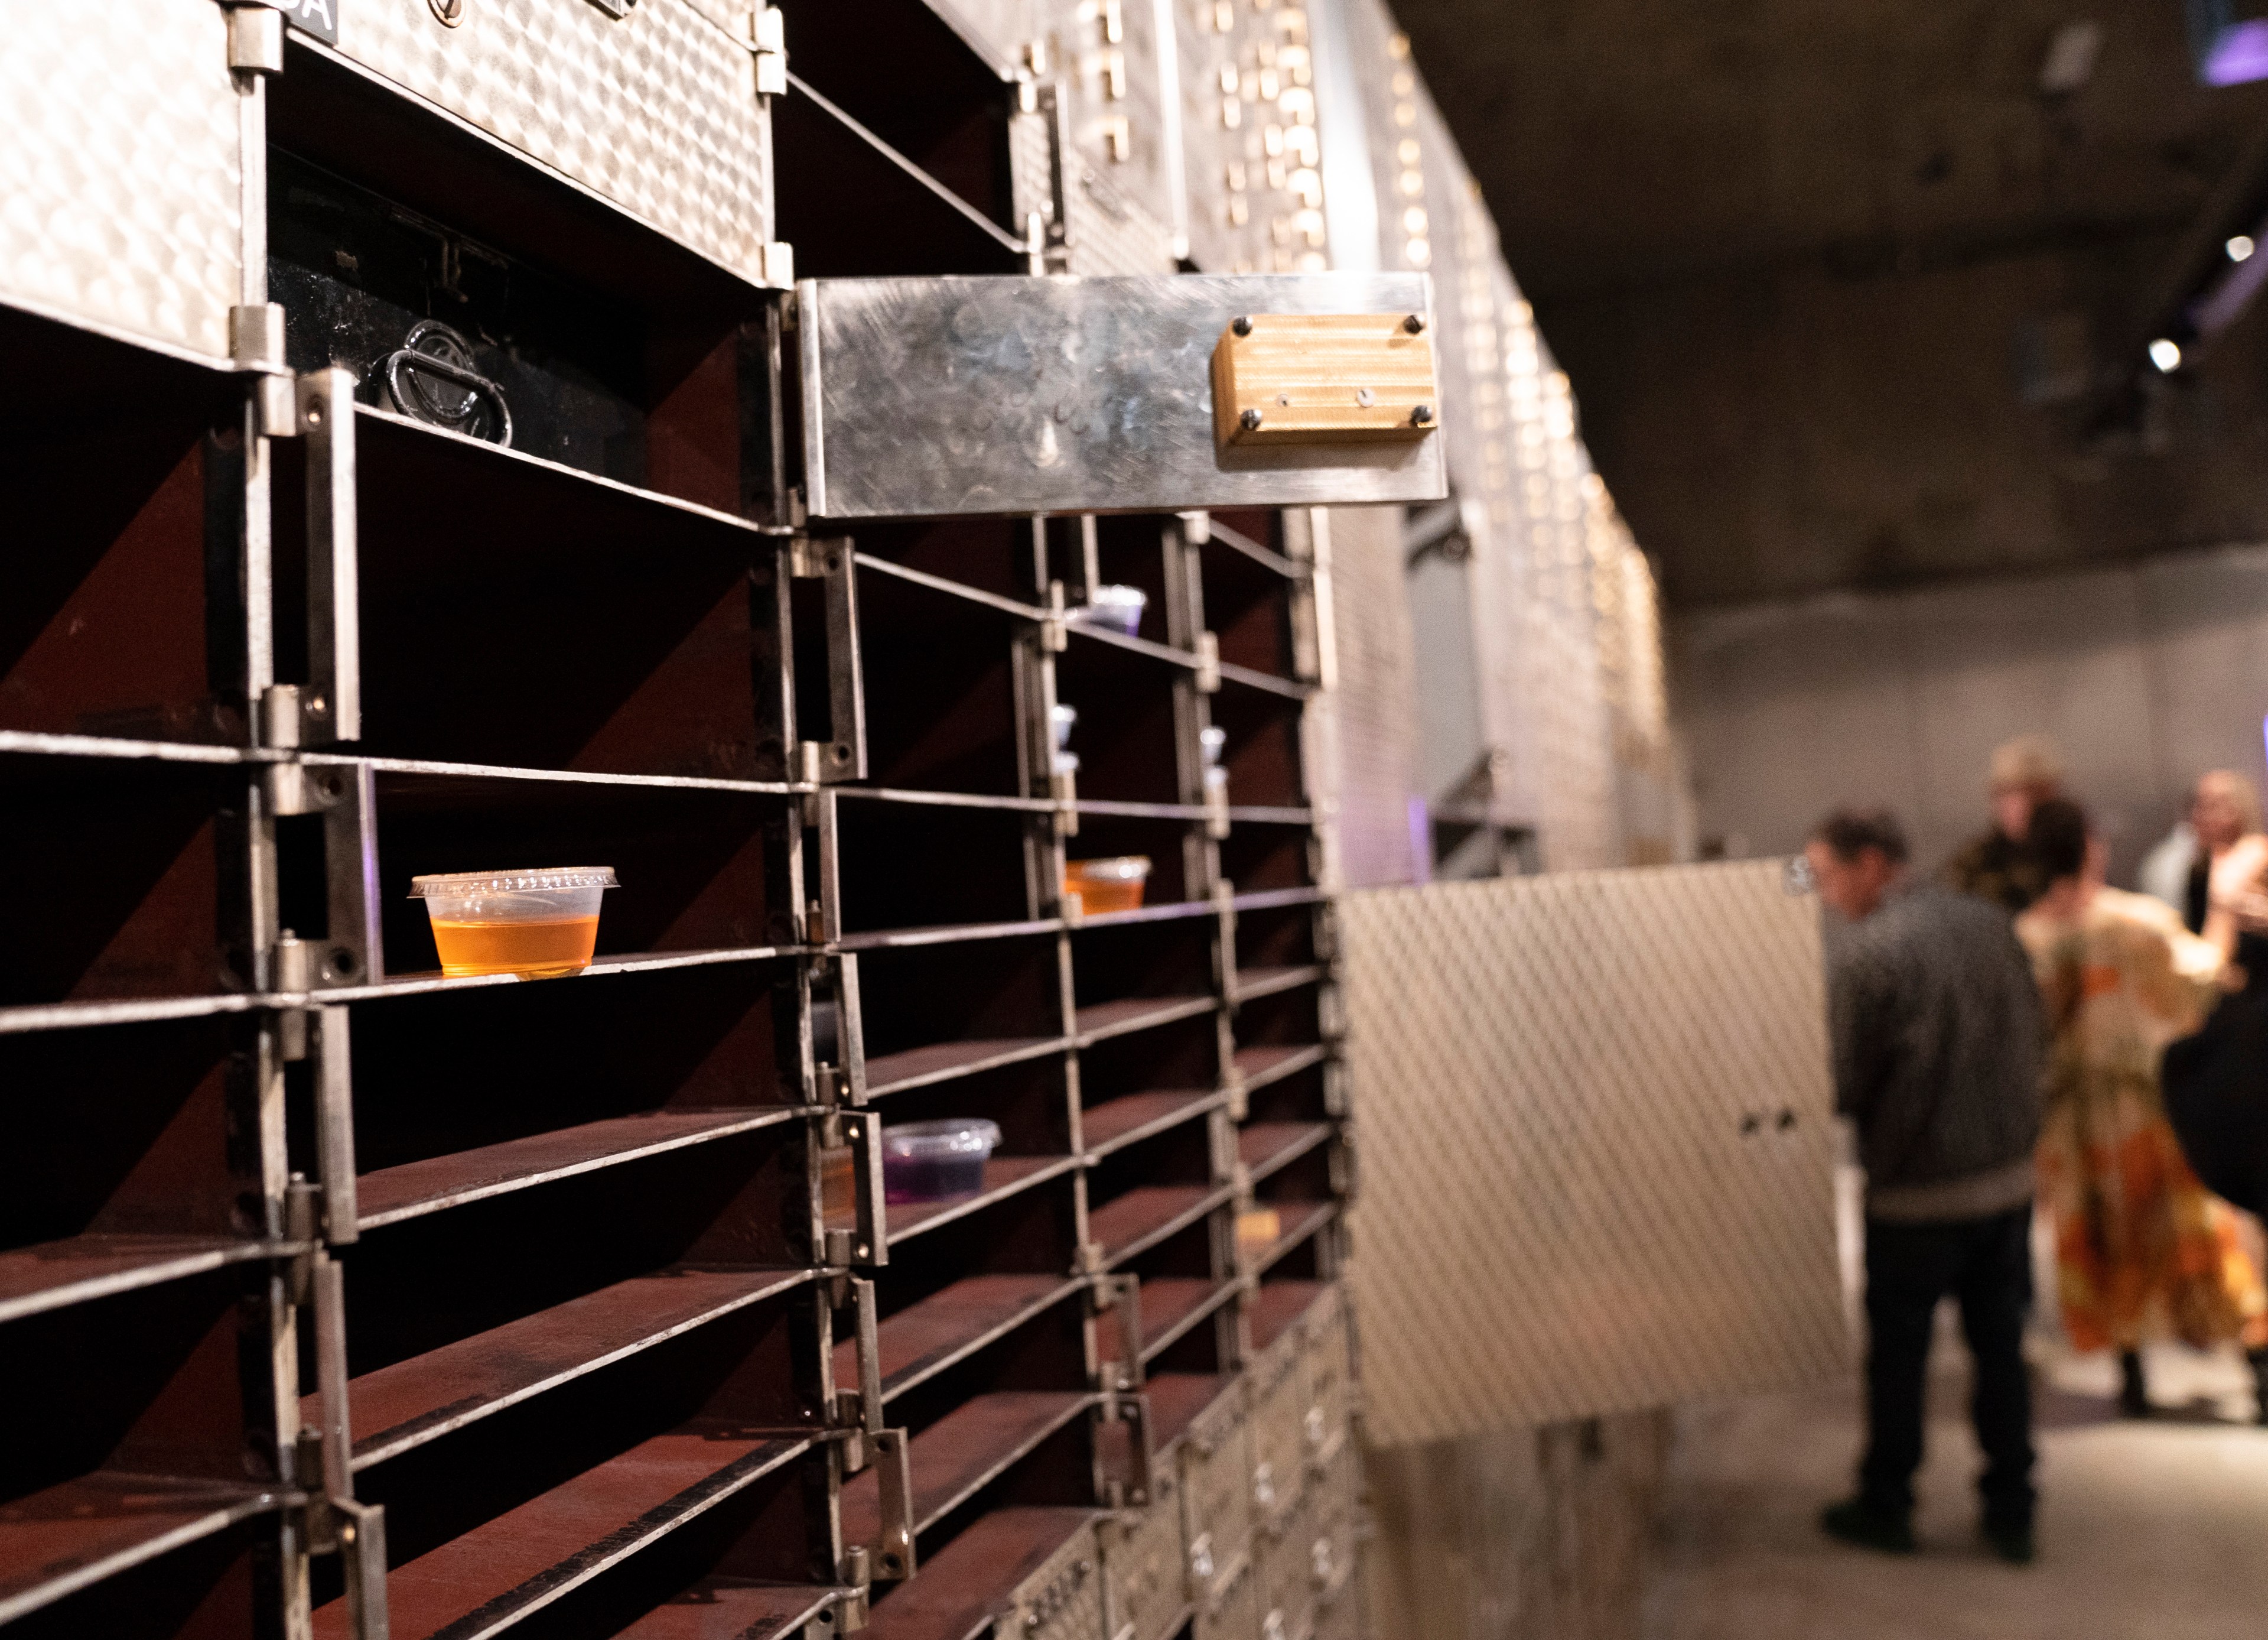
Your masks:
[[[227,358],[243,209],[220,7],[9,7],[0,109],[0,299]]]

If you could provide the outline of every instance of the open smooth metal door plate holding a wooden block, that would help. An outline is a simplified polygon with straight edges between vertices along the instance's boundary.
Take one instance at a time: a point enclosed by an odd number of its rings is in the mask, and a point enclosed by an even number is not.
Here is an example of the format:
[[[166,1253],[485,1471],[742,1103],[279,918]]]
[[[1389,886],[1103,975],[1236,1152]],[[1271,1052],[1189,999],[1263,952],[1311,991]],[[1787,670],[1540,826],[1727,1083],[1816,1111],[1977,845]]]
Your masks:
[[[1168,513],[1445,492],[1440,440],[1218,449],[1241,313],[1424,313],[1422,274],[819,279],[798,290],[814,517]]]

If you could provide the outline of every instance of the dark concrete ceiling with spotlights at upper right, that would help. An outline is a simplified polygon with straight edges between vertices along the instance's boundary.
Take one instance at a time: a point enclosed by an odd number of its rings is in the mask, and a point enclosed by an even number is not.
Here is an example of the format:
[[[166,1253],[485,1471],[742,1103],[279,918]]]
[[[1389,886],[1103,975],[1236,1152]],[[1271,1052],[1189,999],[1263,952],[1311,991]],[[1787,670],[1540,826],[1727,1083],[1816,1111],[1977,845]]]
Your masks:
[[[2114,447],[2019,367],[2123,356],[2268,120],[2195,84],[2182,0],[1397,14],[1674,603],[2268,533],[2257,318]],[[2043,95],[2077,20],[2093,75]]]

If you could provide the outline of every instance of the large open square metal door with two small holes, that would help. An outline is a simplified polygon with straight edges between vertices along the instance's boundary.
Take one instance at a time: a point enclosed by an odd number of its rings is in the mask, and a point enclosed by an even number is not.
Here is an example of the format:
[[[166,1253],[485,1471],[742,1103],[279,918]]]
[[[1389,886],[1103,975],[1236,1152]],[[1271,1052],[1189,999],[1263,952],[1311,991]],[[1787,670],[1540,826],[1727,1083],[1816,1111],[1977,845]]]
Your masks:
[[[1776,862],[1340,905],[1379,1445],[1839,1372],[1819,907]]]

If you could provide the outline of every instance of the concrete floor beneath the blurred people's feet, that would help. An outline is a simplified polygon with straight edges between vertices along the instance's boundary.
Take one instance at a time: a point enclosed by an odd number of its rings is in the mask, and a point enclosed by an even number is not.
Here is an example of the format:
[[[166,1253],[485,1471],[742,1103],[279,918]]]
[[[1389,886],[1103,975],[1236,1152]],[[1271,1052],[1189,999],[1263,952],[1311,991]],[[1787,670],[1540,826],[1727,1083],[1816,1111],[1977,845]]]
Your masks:
[[[2152,1350],[2168,1411],[2127,1422],[2107,1356],[2043,1356],[2037,1565],[2003,1565],[1975,1540],[1966,1372],[1944,1347],[1912,1558],[1846,1549],[1814,1524],[1851,1490],[1855,1386],[1681,1413],[1647,1640],[2268,1635],[2268,1429],[2250,1425],[2243,1361]]]

